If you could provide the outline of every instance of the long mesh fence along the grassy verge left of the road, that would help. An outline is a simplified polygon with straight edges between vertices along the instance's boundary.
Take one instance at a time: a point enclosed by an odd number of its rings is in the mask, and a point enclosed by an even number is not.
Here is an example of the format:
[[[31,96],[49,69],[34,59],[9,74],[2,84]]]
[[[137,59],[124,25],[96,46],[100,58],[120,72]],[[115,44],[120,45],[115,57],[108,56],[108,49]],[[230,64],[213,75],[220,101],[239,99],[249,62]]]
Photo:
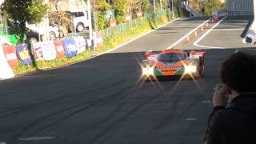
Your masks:
[[[154,21],[156,21],[156,20],[162,18],[163,15],[167,15],[168,11],[169,10],[162,10],[162,12],[159,11],[155,14],[147,13],[147,14],[144,15],[143,18],[134,19],[130,22],[121,23],[118,26],[115,26],[114,28],[106,28],[106,29],[102,30],[102,34],[104,36],[109,36],[111,34],[116,34],[116,33],[120,33],[120,32],[129,30],[131,27],[136,26],[139,23],[141,23],[142,20],[145,19],[145,18],[146,19],[152,18],[152,19],[154,19]]]

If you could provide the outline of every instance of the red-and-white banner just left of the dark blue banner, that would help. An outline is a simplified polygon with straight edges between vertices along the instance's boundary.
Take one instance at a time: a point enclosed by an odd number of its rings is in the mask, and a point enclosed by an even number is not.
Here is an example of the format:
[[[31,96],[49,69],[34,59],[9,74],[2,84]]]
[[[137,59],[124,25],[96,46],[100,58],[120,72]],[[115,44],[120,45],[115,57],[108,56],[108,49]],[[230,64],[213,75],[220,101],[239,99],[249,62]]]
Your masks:
[[[19,64],[15,46],[3,46],[3,52],[6,56],[6,61],[10,65],[11,68],[17,67]]]

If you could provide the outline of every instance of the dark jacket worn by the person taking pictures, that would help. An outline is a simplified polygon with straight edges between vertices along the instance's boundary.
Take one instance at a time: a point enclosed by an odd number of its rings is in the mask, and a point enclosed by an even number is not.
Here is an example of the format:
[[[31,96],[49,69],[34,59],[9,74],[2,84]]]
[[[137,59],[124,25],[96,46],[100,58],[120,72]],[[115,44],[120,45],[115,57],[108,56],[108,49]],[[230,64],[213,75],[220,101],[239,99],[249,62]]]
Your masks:
[[[206,144],[256,144],[256,94],[241,94],[228,108],[214,107]]]

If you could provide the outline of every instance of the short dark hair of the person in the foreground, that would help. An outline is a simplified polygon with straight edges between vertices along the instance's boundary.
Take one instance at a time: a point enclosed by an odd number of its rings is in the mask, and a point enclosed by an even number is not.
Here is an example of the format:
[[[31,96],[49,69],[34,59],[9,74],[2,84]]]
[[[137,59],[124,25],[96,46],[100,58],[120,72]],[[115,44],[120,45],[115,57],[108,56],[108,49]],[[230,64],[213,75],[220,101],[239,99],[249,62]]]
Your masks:
[[[256,92],[256,56],[238,51],[222,63],[222,82],[238,93]]]

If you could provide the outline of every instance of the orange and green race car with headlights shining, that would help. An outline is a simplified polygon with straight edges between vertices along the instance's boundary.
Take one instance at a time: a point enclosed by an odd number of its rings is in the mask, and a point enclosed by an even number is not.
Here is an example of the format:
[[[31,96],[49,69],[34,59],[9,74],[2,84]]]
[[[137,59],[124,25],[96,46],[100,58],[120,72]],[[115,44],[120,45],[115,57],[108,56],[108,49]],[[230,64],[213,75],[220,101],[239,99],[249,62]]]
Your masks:
[[[167,76],[199,78],[205,73],[205,52],[186,53],[170,49],[160,53],[146,52],[145,56],[142,61],[142,77],[145,79]]]

